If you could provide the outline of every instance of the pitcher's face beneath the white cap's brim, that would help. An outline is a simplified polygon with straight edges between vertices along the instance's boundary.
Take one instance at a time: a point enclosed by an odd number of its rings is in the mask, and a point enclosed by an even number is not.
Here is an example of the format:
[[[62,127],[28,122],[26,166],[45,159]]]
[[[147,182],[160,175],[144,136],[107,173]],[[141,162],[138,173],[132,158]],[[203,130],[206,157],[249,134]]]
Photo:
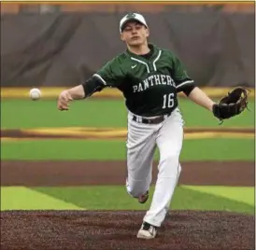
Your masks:
[[[121,40],[128,46],[140,46],[146,43],[149,37],[149,29],[137,21],[126,23],[121,33]]]

